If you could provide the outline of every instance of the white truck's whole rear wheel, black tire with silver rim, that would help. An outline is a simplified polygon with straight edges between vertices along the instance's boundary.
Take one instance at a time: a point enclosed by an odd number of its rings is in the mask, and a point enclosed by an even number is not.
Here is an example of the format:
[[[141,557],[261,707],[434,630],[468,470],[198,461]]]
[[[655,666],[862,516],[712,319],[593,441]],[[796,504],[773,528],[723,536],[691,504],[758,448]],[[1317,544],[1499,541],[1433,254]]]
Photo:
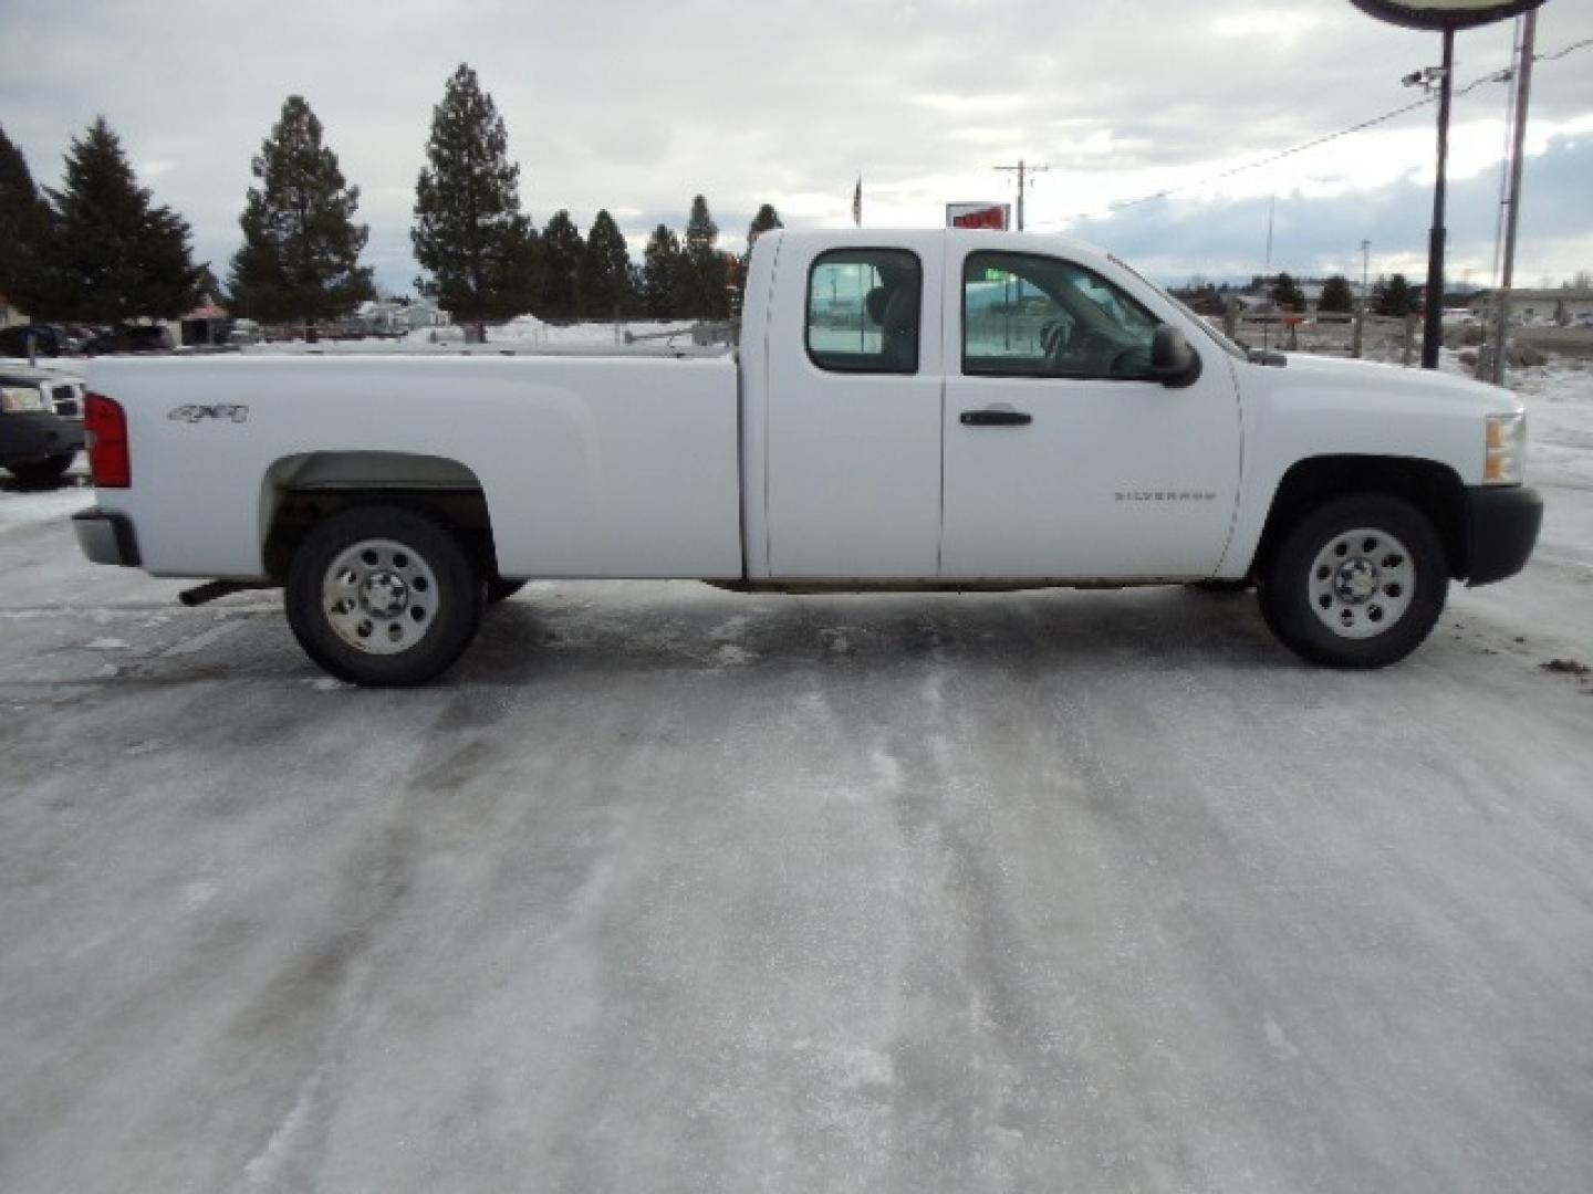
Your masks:
[[[355,551],[362,544],[363,556]],[[401,688],[459,659],[481,624],[484,589],[470,552],[429,516],[355,506],[319,522],[299,543],[285,602],[293,637],[327,672],[354,685]],[[373,605],[374,597],[390,608]]]

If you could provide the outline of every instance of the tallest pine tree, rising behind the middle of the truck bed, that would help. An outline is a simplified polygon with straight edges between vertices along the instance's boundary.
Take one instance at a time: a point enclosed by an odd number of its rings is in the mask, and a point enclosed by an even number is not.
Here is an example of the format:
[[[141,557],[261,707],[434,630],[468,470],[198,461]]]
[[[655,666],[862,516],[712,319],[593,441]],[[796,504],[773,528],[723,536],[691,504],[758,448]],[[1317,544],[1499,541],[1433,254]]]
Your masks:
[[[519,166],[476,72],[460,64],[432,110],[427,166],[414,188],[416,288],[462,323],[530,309],[537,242],[519,210]]]

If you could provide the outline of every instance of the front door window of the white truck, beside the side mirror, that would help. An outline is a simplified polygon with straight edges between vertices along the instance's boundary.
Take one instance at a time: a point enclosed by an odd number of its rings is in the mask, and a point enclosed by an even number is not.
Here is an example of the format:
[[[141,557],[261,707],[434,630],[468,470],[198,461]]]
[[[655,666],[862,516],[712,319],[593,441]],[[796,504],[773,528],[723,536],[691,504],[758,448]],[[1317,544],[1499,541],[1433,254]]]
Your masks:
[[[1158,320],[1121,287],[1061,258],[969,253],[962,373],[1149,380]]]

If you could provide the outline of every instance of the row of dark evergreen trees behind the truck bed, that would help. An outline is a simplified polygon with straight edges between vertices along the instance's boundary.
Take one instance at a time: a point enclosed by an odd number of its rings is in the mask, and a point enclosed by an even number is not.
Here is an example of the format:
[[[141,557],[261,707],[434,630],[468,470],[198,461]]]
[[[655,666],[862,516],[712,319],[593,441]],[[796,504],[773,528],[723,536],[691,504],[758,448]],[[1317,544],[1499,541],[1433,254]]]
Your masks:
[[[360,188],[325,143],[301,96],[252,161],[239,217],[242,247],[225,291],[193,261],[191,231],[156,205],[104,118],[72,142],[64,185],[38,188],[0,129],[0,293],[33,318],[115,323],[175,317],[205,295],[264,323],[319,323],[374,298],[360,264],[370,228],[355,221]],[[763,204],[750,242],[779,228]],[[658,224],[632,263],[607,210],[583,236],[567,210],[537,229],[521,209],[508,132],[475,70],[460,65],[433,108],[416,181],[411,244],[416,288],[465,325],[535,314],[546,320],[725,318],[746,259],[718,248],[707,201],[691,201],[685,232]]]

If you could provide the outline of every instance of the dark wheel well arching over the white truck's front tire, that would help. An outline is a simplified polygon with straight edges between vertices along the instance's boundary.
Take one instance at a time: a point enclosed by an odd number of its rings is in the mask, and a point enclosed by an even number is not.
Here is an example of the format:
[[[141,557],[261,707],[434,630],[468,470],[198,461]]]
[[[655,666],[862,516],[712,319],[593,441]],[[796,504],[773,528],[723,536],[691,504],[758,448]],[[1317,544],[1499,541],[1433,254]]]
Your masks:
[[[1273,495],[1251,573],[1263,568],[1300,517],[1324,501],[1352,494],[1389,494],[1410,501],[1437,529],[1450,575],[1466,576],[1466,487],[1461,478],[1432,460],[1380,455],[1319,455],[1290,466]]]

